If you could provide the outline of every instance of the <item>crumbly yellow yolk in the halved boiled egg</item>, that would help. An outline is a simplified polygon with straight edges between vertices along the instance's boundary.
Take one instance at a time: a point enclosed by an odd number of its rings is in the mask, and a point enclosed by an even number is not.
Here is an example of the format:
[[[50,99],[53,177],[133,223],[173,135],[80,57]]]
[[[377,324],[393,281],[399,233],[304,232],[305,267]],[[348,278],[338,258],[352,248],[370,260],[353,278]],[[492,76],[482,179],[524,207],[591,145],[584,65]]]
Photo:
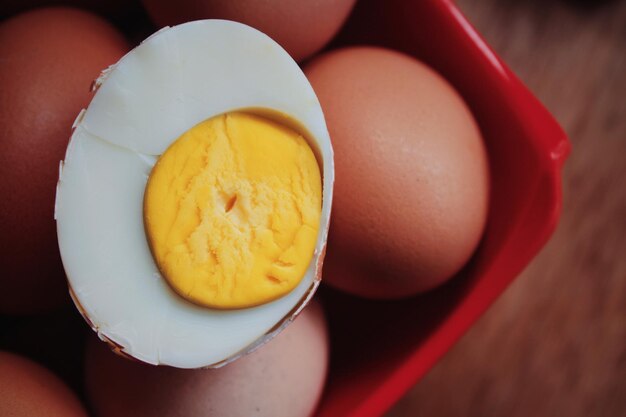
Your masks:
[[[296,131],[233,112],[184,133],[144,195],[156,264],[193,303],[245,308],[293,290],[308,268],[322,207],[318,163]]]

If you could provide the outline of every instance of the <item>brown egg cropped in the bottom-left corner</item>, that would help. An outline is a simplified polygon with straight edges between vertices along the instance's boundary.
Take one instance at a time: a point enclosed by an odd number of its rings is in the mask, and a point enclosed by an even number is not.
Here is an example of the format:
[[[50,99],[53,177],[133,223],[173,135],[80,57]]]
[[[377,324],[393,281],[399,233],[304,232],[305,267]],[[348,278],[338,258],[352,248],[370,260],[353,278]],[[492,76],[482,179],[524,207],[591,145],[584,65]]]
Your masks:
[[[76,395],[42,366],[0,351],[0,416],[87,417]]]

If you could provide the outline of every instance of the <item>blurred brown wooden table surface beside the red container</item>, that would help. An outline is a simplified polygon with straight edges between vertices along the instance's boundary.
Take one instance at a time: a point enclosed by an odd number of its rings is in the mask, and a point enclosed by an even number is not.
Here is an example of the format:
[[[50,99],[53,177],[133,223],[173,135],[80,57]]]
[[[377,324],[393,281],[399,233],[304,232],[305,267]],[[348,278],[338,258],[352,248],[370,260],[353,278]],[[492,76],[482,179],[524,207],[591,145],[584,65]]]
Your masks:
[[[570,137],[563,214],[387,417],[626,416],[626,1],[458,3]]]

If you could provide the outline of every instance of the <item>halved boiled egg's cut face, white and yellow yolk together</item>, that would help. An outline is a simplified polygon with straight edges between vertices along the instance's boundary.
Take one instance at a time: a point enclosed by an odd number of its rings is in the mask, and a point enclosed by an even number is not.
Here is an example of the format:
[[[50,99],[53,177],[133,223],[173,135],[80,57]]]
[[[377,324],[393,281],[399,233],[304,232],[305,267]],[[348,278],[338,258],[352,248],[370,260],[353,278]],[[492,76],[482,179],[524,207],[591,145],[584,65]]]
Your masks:
[[[243,24],[165,28],[109,68],[61,164],[70,293],[101,339],[151,364],[217,367],[312,297],[333,185],[319,102]]]

